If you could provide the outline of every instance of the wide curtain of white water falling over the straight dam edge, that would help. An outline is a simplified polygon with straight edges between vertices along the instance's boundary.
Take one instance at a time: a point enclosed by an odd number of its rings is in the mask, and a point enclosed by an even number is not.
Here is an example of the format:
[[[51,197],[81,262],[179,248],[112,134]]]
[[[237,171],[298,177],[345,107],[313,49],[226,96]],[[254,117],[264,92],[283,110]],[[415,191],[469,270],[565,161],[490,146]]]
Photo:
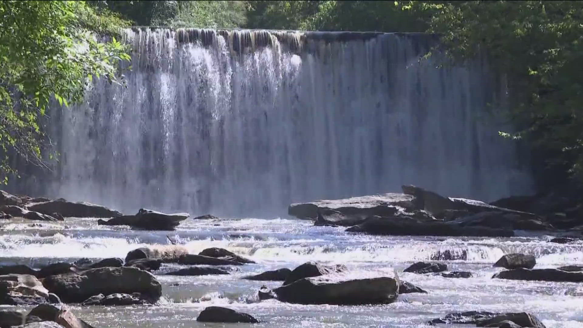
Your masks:
[[[530,189],[488,106],[501,83],[483,60],[423,60],[434,36],[135,28],[125,40],[125,86],[97,80],[83,104],[52,110],[59,163],[34,177],[37,193],[245,216],[402,184],[486,201]]]

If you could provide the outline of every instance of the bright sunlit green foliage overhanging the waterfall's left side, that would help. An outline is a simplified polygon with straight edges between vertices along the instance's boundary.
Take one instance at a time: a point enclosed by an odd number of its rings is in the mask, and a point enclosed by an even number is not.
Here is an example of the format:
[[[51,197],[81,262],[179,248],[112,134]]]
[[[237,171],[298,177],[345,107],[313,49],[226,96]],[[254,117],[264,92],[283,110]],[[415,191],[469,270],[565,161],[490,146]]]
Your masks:
[[[115,16],[102,18],[83,1],[0,2],[0,182],[14,170],[15,155],[44,165],[39,123],[51,101],[67,106],[83,99],[93,76],[117,81],[119,41],[101,43],[89,29],[113,31]]]

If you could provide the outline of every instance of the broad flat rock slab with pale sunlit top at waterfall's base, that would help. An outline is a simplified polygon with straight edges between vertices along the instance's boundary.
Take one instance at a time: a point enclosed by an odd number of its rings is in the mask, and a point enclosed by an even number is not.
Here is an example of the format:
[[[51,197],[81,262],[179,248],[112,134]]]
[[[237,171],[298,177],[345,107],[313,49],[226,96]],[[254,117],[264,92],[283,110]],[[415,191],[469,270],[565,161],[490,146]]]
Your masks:
[[[319,200],[311,203],[291,204],[287,210],[289,215],[305,219],[318,217],[318,210],[324,218],[328,214],[342,214],[343,219],[362,220],[372,215],[394,215],[399,207],[410,208],[413,196],[405,194],[381,194],[374,196],[352,197],[341,200]],[[333,216],[328,218],[335,221]]]

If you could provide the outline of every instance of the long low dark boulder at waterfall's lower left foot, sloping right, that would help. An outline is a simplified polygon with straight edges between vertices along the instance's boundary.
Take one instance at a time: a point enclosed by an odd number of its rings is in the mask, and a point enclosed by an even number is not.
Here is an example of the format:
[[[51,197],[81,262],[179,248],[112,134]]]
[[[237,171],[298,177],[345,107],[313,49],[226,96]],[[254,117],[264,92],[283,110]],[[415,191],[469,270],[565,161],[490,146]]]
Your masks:
[[[110,210],[107,207],[79,202],[73,203],[65,200],[45,201],[43,203],[33,203],[26,207],[30,211],[39,212],[46,215],[59,213],[64,217],[76,218],[112,218],[121,215],[120,212]]]

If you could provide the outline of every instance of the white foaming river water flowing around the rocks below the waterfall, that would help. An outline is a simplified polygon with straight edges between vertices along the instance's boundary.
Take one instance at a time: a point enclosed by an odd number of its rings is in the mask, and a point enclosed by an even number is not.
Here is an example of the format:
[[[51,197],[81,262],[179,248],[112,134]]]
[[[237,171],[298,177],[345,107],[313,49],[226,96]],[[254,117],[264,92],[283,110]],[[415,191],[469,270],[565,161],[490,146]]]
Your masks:
[[[38,226],[40,225],[40,226]],[[248,324],[196,322],[206,306],[227,306],[257,317],[253,327],[427,327],[427,321],[464,310],[526,311],[547,327],[571,328],[583,324],[583,285],[575,283],[492,279],[500,271],[492,264],[505,253],[536,256],[536,268],[583,264],[583,243],[549,243],[550,236],[518,232],[515,238],[434,238],[369,236],[344,232],[344,228],[312,226],[290,218],[187,219],[175,232],[132,231],[98,226],[94,218],[67,218],[65,222],[5,222],[1,226],[2,264],[40,267],[82,257],[124,258],[144,245],[167,244],[167,234],[189,252],[224,247],[257,261],[233,268],[230,275],[173,277],[175,268],[163,266],[156,277],[163,298],[153,306],[73,306],[74,312],[96,327],[246,327]],[[451,271],[471,271],[472,278],[454,279],[402,273],[413,261],[430,260],[439,252],[466,254],[466,260],[446,261]],[[356,275],[392,275],[426,289],[428,294],[403,294],[398,301],[378,306],[292,305],[258,302],[261,285],[280,282],[248,281],[244,275],[287,267],[305,261],[342,263]],[[10,308],[9,306],[3,308]],[[455,326],[452,326],[455,327]],[[460,326],[462,327],[462,326]]]

